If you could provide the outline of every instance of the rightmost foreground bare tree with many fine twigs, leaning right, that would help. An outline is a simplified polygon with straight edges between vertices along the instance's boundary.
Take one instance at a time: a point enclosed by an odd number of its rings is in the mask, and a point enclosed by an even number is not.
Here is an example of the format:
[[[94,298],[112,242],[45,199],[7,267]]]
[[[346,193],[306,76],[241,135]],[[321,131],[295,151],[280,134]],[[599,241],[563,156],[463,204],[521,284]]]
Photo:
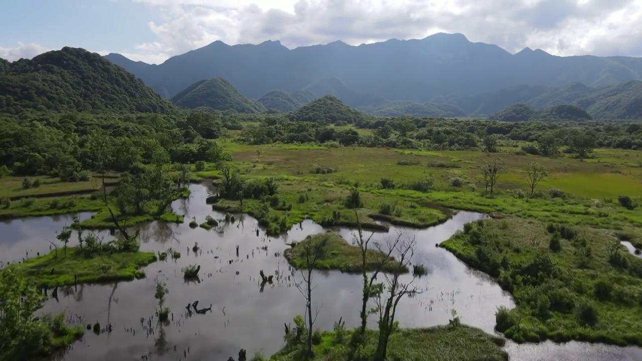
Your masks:
[[[382,295],[384,294],[383,284],[380,284],[381,286],[378,287],[381,292],[377,297],[377,308],[379,309],[379,340],[377,342],[377,351],[374,354],[375,361],[383,361],[386,358],[388,340],[390,340],[390,334],[394,331],[397,304],[401,301],[401,297],[406,294],[416,294],[419,292],[415,286],[412,286],[417,277],[415,274],[413,274],[412,280],[408,283],[401,283],[401,281],[399,281],[401,272],[410,267],[410,261],[415,254],[415,247],[417,245],[415,237],[399,242],[402,234],[403,233],[399,233],[395,242],[387,242],[387,250],[397,252],[398,260],[393,261],[395,272],[392,275],[385,274],[387,283],[385,286],[385,300],[382,299]],[[377,245],[377,249],[383,252],[383,249],[381,249],[379,245]]]

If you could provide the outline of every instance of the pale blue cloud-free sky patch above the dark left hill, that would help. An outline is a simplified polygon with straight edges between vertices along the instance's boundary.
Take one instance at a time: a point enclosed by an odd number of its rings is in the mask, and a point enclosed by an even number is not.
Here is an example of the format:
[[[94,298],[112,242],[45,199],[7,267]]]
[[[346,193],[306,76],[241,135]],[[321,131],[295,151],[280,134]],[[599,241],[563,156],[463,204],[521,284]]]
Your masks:
[[[133,1],[4,0],[0,12],[0,48],[18,42],[48,49],[64,46],[93,51],[131,52],[155,34],[159,8]]]

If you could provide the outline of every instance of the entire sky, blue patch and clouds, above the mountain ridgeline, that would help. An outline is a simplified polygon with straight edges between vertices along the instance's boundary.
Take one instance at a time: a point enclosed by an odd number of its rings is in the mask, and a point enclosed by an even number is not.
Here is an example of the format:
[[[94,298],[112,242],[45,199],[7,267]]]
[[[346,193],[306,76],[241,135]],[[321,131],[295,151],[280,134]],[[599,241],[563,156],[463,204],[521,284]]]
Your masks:
[[[160,64],[216,40],[288,48],[463,33],[516,53],[642,57],[642,0],[5,0],[0,58],[73,46]]]

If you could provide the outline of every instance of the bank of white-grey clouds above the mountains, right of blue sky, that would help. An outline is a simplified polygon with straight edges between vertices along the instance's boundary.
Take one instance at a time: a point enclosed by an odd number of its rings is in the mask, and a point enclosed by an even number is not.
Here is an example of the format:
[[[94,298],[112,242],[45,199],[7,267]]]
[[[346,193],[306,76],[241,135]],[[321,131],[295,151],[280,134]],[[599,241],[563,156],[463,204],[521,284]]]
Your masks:
[[[132,0],[156,6],[155,42],[126,56],[160,62],[215,40],[295,48],[422,38],[445,31],[511,52],[642,56],[642,0]]]

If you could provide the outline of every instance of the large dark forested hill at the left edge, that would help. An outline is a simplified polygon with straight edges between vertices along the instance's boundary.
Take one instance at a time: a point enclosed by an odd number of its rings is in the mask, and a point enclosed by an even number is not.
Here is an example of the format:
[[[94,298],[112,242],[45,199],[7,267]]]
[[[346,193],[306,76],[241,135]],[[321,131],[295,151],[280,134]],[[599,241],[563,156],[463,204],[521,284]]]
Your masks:
[[[168,112],[175,107],[141,80],[96,53],[49,51],[0,62],[0,111]]]

